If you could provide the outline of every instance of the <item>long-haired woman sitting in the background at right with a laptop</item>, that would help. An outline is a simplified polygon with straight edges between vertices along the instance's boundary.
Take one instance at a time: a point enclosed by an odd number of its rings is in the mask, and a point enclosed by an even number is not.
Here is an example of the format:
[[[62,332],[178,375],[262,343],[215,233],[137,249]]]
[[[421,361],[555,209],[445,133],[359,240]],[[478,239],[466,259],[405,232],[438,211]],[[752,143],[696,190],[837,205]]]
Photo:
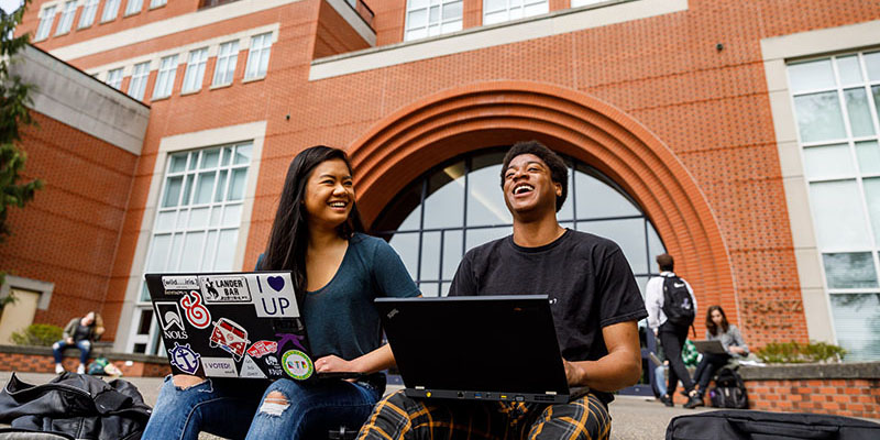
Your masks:
[[[698,389],[692,392],[688,403],[684,404],[685,408],[703,406],[703,396],[715,372],[726,365],[730,358],[745,358],[749,354],[749,348],[739,334],[739,329],[727,322],[727,315],[724,314],[722,306],[712,306],[706,312],[706,339],[721,341],[726,353],[703,353],[703,359],[694,372]]]

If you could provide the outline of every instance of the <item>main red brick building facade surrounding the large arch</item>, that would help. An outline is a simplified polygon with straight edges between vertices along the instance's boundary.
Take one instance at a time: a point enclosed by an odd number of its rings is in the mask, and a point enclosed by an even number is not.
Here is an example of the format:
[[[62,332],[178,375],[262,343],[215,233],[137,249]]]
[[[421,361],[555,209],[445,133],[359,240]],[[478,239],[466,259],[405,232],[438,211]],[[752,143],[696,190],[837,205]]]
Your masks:
[[[465,1],[465,13],[479,9],[474,1]],[[378,45],[402,41],[404,2],[373,0],[370,6],[376,13]],[[722,301],[718,292],[706,287],[696,293],[701,304],[721,302],[751,345],[807,339],[760,40],[876,20],[875,2],[692,0],[684,12],[308,81],[318,7],[318,1],[301,1],[74,61],[88,68],[280,22],[265,80],[237,80],[229,88],[153,103],[110,282],[108,315],[123,298],[163,136],[268,121],[243,264],[251,267],[265,245],[286,166],[298,151],[318,143],[352,145],[395,111],[441,90],[520,80],[595,97],[661,140],[692,176],[693,197],[705,197],[724,243],[712,252],[726,255],[733,272],[735,296]],[[36,25],[22,29],[28,26]],[[716,51],[716,43],[725,48]],[[54,44],[50,38],[41,47]],[[243,58],[239,63],[243,66]],[[178,89],[182,79],[179,72]],[[152,86],[147,96],[151,91]],[[432,165],[411,164],[422,170]],[[376,205],[391,199],[394,190],[385,188],[374,198]],[[688,224],[675,228],[686,230]],[[685,246],[682,252],[697,251],[705,250]],[[704,271],[696,262],[679,272],[692,284],[705,285]]]

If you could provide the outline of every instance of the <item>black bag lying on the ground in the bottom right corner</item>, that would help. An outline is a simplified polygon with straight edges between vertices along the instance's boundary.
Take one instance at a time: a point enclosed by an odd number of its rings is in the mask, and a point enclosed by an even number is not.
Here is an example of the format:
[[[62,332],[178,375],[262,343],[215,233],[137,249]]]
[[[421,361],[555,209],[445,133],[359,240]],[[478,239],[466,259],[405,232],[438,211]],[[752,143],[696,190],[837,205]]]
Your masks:
[[[741,409],[678,416],[667,440],[876,440],[880,425],[840,416],[766,413]]]

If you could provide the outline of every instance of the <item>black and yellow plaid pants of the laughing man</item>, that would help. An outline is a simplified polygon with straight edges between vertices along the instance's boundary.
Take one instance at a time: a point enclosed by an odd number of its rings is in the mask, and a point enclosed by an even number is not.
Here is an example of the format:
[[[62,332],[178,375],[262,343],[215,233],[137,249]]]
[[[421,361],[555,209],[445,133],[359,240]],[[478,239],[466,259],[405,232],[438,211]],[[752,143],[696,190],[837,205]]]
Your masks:
[[[414,399],[397,392],[373,408],[359,440],[607,439],[612,419],[593,394],[561,405]]]

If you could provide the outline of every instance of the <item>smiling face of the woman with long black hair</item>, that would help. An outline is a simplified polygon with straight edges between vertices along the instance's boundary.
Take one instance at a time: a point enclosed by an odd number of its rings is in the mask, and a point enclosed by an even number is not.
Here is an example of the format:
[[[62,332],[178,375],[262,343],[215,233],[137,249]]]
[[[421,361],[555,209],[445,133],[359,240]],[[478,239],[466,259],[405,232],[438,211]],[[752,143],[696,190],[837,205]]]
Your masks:
[[[345,162],[334,158],[318,164],[306,183],[304,204],[312,227],[344,223],[354,205],[354,184]]]

